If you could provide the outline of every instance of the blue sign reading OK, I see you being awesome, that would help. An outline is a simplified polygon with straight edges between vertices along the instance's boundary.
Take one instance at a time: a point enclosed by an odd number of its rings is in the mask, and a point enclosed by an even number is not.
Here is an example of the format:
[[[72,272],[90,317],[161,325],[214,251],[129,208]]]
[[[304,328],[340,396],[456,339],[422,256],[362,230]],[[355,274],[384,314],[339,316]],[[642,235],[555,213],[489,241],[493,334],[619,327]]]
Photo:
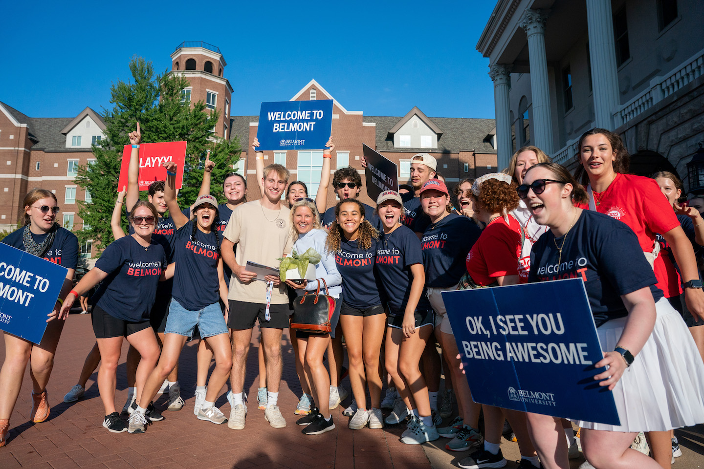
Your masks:
[[[620,425],[581,278],[443,292],[474,401]]]

